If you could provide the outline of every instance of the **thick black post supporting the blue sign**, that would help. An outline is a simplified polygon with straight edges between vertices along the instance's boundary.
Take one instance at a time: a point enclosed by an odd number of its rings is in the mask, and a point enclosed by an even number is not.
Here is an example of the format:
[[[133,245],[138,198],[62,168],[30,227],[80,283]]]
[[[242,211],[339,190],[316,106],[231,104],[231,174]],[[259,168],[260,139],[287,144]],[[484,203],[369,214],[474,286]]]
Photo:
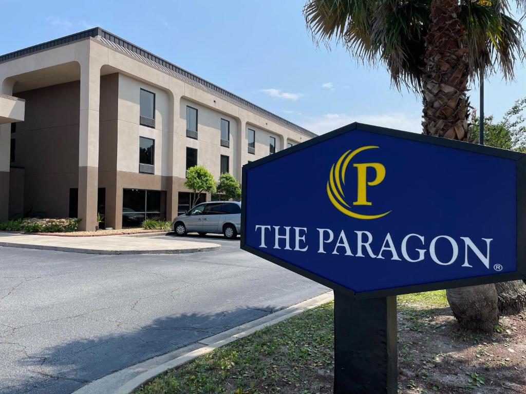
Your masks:
[[[396,296],[334,292],[334,394],[397,394]]]

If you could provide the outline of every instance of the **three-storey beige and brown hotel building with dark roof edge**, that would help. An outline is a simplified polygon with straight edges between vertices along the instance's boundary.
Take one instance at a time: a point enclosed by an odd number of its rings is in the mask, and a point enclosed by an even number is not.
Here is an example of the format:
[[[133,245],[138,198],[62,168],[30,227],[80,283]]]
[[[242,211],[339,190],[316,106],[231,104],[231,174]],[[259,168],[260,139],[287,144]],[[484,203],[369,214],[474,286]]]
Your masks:
[[[315,134],[101,28],[0,56],[0,221],[171,220],[216,179]],[[210,199],[210,195],[206,195]],[[201,200],[202,201],[202,200]]]

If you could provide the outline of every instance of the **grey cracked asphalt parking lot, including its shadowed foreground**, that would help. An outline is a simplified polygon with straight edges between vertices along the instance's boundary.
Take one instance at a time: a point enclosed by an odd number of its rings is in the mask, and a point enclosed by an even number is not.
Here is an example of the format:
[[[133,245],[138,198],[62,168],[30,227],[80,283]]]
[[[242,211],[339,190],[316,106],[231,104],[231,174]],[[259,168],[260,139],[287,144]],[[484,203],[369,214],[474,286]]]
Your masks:
[[[163,239],[173,239],[168,235]],[[327,288],[239,249],[88,255],[0,247],[0,392],[70,393]]]

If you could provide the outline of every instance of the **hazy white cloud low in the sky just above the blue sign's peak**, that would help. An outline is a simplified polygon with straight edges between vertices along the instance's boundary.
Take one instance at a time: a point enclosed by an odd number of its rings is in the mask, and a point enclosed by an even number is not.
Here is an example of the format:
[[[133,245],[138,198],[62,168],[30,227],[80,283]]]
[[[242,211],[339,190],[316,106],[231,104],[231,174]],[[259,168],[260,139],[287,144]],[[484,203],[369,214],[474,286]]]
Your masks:
[[[316,134],[346,126],[352,122],[367,123],[368,125],[388,127],[391,129],[420,133],[422,131],[420,116],[406,112],[378,113],[374,115],[348,115],[345,113],[326,113],[318,118],[311,118],[302,122],[302,126]]]

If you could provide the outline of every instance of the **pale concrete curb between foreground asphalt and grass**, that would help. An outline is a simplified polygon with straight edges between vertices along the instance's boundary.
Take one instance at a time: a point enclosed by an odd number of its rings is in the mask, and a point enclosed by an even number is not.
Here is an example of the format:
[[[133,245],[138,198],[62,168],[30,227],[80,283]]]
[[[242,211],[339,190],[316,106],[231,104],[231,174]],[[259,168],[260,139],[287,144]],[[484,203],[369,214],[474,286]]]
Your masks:
[[[93,394],[97,392],[106,392],[114,394],[129,394],[136,388],[153,380],[157,375],[162,374],[168,369],[179,367],[187,362],[203,356],[214,349],[227,345],[237,339],[244,338],[263,328],[275,325],[292,316],[296,316],[306,310],[315,308],[334,299],[332,291],[323,293],[317,297],[305,300],[288,308],[281,309],[278,312],[271,313],[267,316],[253,320],[252,322],[242,324],[238,327],[231,328],[224,333],[216,334],[208,338],[201,339],[197,343],[188,345],[184,348],[177,349],[167,355],[154,357],[153,359],[140,362],[139,364],[127,367],[123,370],[106,375],[103,378],[94,380],[86,386],[74,391],[73,394]],[[156,362],[160,361],[160,364]],[[164,361],[167,360],[167,361]],[[146,370],[145,370],[146,369]],[[124,380],[123,375],[126,372],[141,371],[141,373],[132,379],[127,380],[124,384],[116,386],[116,382]],[[143,372],[144,371],[144,372]],[[113,388],[112,387],[118,387]]]

